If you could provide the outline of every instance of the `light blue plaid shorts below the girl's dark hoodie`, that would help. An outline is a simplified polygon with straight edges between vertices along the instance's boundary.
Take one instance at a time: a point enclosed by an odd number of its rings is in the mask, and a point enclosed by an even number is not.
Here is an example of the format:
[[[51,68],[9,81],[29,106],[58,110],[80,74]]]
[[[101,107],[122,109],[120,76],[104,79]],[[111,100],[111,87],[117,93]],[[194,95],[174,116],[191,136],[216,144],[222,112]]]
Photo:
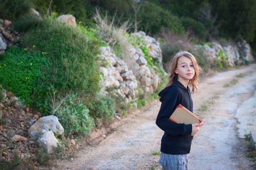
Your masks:
[[[188,158],[187,154],[166,154],[161,153],[159,164],[163,170],[187,170]]]

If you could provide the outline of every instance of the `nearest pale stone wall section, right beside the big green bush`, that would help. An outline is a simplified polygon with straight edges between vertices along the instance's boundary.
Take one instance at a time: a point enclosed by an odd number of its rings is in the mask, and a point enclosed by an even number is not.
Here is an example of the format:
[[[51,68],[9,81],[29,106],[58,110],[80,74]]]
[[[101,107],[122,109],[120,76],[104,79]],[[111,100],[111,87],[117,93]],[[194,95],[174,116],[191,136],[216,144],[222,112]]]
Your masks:
[[[136,96],[138,82],[132,70],[127,68],[126,63],[110,51],[110,47],[100,47],[101,59],[99,70],[102,72],[101,93],[108,89],[119,94],[126,102],[130,102]]]

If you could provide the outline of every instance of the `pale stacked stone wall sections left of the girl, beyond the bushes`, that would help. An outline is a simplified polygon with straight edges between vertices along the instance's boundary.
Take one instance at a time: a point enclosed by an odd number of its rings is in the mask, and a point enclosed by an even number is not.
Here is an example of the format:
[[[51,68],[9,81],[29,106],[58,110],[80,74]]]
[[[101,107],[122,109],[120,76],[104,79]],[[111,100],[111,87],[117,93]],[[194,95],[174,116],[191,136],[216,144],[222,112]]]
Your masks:
[[[138,36],[149,49],[149,56],[156,58],[159,63],[162,62],[162,54],[158,41],[144,32],[131,34]],[[100,47],[101,65],[101,93],[107,93],[109,89],[118,93],[126,102],[130,102],[138,97],[138,86],[145,93],[152,93],[158,87],[160,79],[157,67],[147,65],[147,60],[138,46],[129,45],[129,60],[132,60],[132,68],[116,54],[110,47]],[[163,70],[163,68],[161,67]]]

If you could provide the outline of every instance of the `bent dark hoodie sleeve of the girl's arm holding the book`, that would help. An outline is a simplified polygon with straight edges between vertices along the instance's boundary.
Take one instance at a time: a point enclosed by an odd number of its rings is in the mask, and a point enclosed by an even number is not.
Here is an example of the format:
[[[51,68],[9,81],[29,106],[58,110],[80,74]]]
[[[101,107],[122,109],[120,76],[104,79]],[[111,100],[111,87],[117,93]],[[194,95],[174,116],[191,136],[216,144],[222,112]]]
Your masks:
[[[174,108],[176,107],[176,102],[178,101],[178,90],[176,88],[166,89],[167,91],[161,96],[161,107],[158,113],[156,124],[164,132],[172,136],[177,135],[191,135],[192,125],[184,123],[175,123],[170,120]]]

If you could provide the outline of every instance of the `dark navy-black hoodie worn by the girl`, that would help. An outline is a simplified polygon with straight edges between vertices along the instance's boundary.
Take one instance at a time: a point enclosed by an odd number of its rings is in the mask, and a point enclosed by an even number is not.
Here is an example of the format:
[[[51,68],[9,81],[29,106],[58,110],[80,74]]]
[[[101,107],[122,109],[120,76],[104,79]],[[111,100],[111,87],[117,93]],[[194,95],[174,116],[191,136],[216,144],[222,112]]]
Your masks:
[[[165,87],[159,94],[161,107],[156,124],[164,131],[161,140],[161,152],[167,154],[187,154],[190,152],[193,136],[192,125],[175,123],[169,118],[178,104],[182,104],[193,112],[193,101],[189,87],[186,88],[179,81]]]

